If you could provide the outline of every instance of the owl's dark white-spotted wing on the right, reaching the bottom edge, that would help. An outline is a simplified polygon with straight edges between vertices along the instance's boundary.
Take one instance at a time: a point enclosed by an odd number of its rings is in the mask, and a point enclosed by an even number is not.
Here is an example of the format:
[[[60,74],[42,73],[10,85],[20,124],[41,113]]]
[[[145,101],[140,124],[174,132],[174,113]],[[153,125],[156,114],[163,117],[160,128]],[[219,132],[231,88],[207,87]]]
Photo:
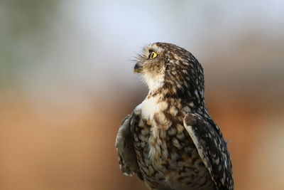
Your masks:
[[[233,190],[231,159],[226,142],[214,128],[214,122],[207,122],[198,114],[185,115],[183,124],[197,147],[205,167],[218,190]]]

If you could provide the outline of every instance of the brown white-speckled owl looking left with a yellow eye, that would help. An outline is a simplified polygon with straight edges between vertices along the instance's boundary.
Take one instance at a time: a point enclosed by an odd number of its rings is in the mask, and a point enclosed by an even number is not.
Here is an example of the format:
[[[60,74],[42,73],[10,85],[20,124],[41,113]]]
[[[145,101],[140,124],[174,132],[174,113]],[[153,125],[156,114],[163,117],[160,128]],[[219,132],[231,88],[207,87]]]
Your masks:
[[[133,71],[148,95],[116,135],[121,171],[152,190],[233,190],[227,142],[205,105],[203,68],[195,56],[172,43],[150,43]]]

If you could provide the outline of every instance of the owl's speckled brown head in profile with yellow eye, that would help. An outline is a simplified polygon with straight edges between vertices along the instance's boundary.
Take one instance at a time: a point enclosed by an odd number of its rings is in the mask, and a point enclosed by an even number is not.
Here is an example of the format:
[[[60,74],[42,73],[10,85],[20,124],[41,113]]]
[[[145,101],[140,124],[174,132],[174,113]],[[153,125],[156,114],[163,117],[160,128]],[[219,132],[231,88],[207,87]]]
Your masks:
[[[141,73],[150,93],[204,97],[204,75],[198,60],[171,43],[151,43],[138,56],[135,73]]]

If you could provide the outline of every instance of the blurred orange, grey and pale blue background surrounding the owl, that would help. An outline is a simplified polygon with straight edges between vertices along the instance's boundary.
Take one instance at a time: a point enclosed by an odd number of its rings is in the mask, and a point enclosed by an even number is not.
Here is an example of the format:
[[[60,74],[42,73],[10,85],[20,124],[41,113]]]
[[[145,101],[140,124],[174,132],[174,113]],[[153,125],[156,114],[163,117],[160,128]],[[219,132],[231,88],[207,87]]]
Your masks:
[[[119,171],[147,94],[133,56],[187,48],[229,140],[236,189],[284,189],[284,1],[0,1],[0,189],[146,189]]]

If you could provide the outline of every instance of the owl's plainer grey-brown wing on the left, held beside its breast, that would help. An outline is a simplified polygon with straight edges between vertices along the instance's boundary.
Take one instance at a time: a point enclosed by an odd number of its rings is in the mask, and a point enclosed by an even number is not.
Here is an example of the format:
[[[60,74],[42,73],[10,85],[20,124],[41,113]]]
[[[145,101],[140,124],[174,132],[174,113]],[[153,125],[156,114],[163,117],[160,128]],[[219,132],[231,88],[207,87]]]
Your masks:
[[[136,173],[139,178],[143,178],[138,167],[136,153],[133,147],[133,137],[131,135],[132,114],[124,117],[116,135],[116,152],[119,157],[119,167],[127,176]]]

